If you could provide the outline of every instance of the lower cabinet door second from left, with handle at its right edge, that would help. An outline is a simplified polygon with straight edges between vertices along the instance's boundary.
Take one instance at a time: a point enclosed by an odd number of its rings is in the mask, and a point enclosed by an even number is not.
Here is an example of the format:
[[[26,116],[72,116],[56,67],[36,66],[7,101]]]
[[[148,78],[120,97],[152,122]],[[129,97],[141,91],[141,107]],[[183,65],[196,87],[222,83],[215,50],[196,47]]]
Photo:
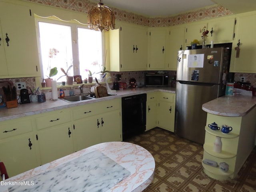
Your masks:
[[[42,164],[74,152],[71,124],[62,124],[40,130],[37,137]]]

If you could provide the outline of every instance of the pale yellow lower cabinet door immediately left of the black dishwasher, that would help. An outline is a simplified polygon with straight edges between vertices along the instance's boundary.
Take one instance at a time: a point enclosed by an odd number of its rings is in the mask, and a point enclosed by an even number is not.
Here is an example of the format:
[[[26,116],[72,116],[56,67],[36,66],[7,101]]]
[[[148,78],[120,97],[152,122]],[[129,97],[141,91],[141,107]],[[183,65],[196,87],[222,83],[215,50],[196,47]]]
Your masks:
[[[119,110],[103,113],[100,119],[100,140],[101,142],[122,140],[122,117]]]

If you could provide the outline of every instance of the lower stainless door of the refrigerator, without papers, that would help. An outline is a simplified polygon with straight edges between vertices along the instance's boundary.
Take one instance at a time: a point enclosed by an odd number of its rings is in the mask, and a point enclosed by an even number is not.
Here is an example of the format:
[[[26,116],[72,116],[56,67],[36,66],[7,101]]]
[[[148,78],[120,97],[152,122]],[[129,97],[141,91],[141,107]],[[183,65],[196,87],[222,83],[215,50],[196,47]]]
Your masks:
[[[207,113],[202,105],[218,97],[219,85],[199,86],[176,82],[175,134],[204,144]]]

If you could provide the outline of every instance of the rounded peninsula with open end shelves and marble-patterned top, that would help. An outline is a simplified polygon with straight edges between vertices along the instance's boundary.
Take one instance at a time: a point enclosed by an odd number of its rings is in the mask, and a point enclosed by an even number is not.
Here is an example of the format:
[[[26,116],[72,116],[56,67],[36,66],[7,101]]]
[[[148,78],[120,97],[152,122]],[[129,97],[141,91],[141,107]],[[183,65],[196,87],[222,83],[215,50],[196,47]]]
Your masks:
[[[206,104],[202,109],[207,112],[205,126],[204,172],[217,180],[235,178],[255,145],[256,97],[246,95],[222,96]],[[220,130],[211,130],[208,124],[215,122]],[[228,134],[221,132],[222,125],[232,127]],[[216,137],[221,138],[222,150],[214,151]],[[217,162],[218,166],[205,164],[204,160]],[[220,163],[229,165],[228,172],[220,170]]]

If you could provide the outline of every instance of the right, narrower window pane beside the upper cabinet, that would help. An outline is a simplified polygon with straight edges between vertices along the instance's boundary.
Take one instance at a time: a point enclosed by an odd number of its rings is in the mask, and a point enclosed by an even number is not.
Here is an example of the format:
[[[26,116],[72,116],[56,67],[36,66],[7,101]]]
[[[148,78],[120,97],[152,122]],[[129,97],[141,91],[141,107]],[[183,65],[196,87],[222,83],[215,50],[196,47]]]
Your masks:
[[[102,36],[100,31],[78,28],[78,49],[80,62],[80,75],[83,79],[88,78],[87,70],[93,77],[98,78],[102,65]]]

